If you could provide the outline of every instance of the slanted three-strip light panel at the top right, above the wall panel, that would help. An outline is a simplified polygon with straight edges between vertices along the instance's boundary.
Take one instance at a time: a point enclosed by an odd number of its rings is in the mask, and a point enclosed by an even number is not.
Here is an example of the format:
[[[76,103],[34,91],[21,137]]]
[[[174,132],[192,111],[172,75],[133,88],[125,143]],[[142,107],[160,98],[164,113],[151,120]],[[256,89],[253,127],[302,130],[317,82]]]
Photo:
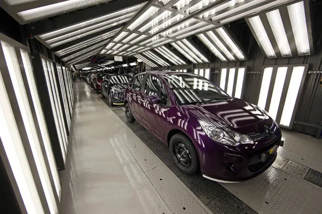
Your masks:
[[[277,10],[246,19],[257,43],[269,58],[309,55],[312,50],[312,37],[309,10],[304,2],[282,6]],[[286,26],[285,26],[286,25]],[[290,46],[289,41],[295,41]],[[273,48],[276,47],[276,48]]]

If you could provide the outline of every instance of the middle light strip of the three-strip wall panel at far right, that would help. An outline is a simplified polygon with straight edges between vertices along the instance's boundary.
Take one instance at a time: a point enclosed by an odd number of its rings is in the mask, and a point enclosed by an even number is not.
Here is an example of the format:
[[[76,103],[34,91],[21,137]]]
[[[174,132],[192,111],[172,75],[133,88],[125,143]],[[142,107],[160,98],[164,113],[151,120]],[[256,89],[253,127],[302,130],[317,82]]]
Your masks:
[[[271,118],[273,118],[274,120],[276,120],[277,111],[280,105],[286,72],[287,72],[287,67],[279,67],[277,69],[274,89],[272,93],[272,99],[271,99],[270,108],[269,108],[269,114]]]

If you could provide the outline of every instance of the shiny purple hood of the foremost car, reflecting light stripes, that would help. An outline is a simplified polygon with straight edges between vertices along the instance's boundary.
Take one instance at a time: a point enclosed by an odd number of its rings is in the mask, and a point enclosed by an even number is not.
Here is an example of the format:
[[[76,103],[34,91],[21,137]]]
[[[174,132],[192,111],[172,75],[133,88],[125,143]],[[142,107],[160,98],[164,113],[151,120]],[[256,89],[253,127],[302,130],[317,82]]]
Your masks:
[[[257,124],[268,118],[267,114],[257,106],[238,98],[194,106],[202,113],[205,119],[219,122],[234,129]],[[202,118],[200,115],[198,117]]]

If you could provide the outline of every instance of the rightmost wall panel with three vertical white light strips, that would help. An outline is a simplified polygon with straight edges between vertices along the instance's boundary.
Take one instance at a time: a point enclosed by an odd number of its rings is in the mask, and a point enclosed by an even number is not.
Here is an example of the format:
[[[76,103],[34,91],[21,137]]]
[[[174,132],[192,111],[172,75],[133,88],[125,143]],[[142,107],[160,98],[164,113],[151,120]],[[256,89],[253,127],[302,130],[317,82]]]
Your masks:
[[[280,126],[292,128],[307,67],[304,64],[264,68],[257,105]]]

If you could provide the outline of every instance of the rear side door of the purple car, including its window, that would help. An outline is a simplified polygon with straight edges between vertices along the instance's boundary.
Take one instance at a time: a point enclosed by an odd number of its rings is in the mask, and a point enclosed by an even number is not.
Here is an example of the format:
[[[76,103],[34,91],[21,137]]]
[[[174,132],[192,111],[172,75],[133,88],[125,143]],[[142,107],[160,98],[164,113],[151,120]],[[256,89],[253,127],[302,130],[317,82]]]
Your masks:
[[[133,84],[131,86],[131,90],[128,92],[127,100],[130,102],[130,107],[132,114],[136,119],[138,119],[140,122],[143,122],[142,120],[142,111],[141,111],[141,104],[142,104],[142,92],[141,88],[143,87],[145,74],[140,74],[136,77],[134,77]]]

